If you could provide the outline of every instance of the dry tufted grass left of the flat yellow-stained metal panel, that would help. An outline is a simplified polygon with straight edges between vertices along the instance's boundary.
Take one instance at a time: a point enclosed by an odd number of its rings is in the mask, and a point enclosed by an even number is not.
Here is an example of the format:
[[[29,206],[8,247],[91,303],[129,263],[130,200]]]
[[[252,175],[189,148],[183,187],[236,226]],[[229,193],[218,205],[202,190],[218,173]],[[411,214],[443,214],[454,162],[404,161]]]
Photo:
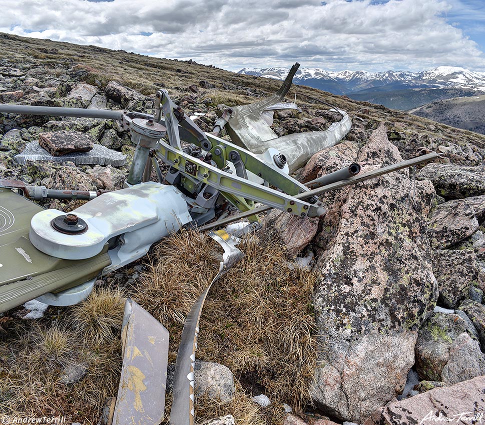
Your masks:
[[[118,390],[123,308],[121,292],[104,288],[59,316],[14,320],[0,349],[0,412],[96,424],[105,400]],[[86,375],[63,383],[65,368],[73,364],[85,365]]]

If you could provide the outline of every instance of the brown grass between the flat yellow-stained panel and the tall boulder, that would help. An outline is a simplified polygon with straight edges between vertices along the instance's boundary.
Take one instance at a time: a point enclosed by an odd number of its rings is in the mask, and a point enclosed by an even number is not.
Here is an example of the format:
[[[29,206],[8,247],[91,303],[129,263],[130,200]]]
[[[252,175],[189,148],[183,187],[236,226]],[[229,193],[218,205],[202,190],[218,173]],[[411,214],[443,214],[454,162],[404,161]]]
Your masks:
[[[250,237],[240,248],[243,260],[209,292],[196,356],[228,366],[248,394],[252,388],[262,388],[273,402],[264,409],[264,423],[278,423],[283,403],[298,411],[310,402],[308,389],[316,358],[311,306],[315,276],[290,268],[291,258],[284,247],[270,240]],[[217,273],[221,254],[211,238],[187,230],[165,240],[151,256],[150,272],[135,298],[169,329],[169,361],[175,361],[181,323]],[[243,395],[234,401],[234,410],[228,405],[215,409],[217,403],[199,398],[198,418],[234,411],[238,423],[246,423],[249,413],[236,408],[244,404],[247,396]]]

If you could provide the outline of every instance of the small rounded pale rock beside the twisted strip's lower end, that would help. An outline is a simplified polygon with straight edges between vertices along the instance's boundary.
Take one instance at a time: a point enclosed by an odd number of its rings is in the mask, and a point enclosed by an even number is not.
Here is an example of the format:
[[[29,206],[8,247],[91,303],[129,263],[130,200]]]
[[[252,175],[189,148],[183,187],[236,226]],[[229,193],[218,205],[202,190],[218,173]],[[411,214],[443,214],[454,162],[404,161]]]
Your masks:
[[[209,361],[197,361],[194,367],[195,393],[219,401],[229,401],[234,396],[234,375],[228,367]]]

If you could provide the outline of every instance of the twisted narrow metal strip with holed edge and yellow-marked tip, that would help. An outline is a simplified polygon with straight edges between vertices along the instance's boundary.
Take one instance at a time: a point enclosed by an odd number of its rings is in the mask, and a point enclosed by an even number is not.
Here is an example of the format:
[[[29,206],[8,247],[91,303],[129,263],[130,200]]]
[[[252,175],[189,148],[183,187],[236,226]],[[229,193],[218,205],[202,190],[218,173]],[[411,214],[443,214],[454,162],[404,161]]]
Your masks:
[[[202,292],[192,306],[182,331],[177,361],[175,363],[173,402],[170,410],[170,425],[193,425],[195,422],[194,387],[195,387],[195,351],[197,349],[197,336],[199,334],[199,319],[207,293],[212,284],[221,275],[239,262],[244,254],[237,248],[236,243],[225,230],[211,231],[209,233],[224,249],[223,260],[219,272]]]

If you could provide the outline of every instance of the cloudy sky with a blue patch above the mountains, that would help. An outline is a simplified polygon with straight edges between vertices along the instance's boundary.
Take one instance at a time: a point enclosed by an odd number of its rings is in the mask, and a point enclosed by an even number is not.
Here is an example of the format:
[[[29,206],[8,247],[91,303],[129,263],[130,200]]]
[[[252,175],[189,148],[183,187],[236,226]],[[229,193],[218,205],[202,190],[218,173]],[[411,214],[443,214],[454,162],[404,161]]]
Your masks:
[[[242,67],[485,71],[485,0],[2,0],[0,31]]]

